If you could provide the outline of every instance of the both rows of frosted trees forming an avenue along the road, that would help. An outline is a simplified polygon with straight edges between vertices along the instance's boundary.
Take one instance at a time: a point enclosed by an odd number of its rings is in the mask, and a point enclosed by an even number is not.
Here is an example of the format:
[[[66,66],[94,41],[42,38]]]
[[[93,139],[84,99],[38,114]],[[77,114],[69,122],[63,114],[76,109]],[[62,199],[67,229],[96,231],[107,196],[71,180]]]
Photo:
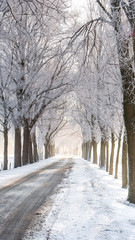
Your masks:
[[[72,119],[83,158],[118,178],[122,155],[122,187],[135,203],[135,1],[87,4],[82,23],[70,1],[0,1],[4,170],[10,129],[18,167],[39,160],[37,137],[44,157],[54,155],[55,137]]]

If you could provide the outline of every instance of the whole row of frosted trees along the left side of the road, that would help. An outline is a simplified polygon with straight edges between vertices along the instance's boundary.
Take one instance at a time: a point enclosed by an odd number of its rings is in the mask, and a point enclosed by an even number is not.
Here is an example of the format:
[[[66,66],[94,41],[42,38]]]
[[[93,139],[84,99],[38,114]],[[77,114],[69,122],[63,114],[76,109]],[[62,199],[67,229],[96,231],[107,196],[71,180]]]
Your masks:
[[[0,8],[0,114],[7,169],[10,127],[15,167],[32,163],[36,124],[72,88],[67,75],[73,59],[64,52],[64,1],[2,1]]]

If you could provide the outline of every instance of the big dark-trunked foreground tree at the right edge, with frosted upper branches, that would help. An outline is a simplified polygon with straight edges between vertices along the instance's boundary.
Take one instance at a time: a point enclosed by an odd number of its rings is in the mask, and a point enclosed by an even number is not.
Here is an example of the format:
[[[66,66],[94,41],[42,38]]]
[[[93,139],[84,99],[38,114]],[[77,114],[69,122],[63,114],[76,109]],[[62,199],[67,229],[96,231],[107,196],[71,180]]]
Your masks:
[[[127,131],[129,158],[128,200],[135,203],[135,133],[134,133],[134,64],[135,64],[135,1],[111,0],[110,9],[97,1],[115,31],[119,69],[123,85],[123,112]]]

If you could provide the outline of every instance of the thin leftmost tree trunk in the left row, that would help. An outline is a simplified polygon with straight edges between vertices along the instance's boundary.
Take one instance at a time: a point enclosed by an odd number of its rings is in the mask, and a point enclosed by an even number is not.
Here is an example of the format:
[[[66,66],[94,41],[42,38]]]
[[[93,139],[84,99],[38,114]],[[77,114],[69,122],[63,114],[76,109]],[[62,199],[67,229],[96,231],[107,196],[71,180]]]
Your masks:
[[[4,129],[4,167],[3,170],[8,169],[8,128]]]

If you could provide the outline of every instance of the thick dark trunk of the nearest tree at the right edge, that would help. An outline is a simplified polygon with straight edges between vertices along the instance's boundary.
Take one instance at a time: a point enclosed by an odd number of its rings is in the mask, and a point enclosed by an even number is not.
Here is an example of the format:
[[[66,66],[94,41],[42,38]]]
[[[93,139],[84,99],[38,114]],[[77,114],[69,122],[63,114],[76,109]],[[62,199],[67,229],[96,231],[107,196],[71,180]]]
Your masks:
[[[128,67],[128,68],[127,68]],[[131,66],[121,68],[124,88],[124,121],[128,144],[129,188],[128,200],[135,203],[135,104],[134,73]]]

